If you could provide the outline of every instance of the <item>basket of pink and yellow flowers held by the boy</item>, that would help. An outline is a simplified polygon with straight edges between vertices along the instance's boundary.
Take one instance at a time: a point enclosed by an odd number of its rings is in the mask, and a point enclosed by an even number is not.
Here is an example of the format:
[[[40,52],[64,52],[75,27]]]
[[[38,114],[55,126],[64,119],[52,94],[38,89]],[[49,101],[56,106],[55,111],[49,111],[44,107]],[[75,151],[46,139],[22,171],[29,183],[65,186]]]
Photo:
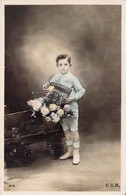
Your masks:
[[[32,117],[40,112],[46,122],[58,123],[63,118],[73,117],[73,112],[66,98],[71,92],[70,88],[57,83],[51,83],[44,88],[44,96],[27,101],[32,107]]]

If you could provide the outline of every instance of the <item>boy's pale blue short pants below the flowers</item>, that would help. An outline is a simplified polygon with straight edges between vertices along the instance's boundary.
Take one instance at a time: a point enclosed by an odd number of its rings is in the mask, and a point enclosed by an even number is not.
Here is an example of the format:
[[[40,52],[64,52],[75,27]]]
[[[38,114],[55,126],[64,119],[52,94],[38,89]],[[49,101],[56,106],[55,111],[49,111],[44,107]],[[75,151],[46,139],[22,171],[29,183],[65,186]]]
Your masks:
[[[78,130],[78,117],[64,118],[61,121],[61,125],[63,128],[63,131],[67,131],[68,129],[70,129],[71,131],[77,131]]]

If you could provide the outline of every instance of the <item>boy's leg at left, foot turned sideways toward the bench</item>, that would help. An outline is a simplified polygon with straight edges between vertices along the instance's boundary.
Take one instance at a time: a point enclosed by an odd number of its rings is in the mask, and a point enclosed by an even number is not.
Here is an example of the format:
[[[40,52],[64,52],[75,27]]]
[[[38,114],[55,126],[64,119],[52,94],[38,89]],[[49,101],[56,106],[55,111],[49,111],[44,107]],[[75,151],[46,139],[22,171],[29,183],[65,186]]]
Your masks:
[[[73,140],[71,136],[71,131],[66,130],[64,131],[64,134],[66,138],[67,152],[59,158],[60,160],[65,160],[73,156]]]

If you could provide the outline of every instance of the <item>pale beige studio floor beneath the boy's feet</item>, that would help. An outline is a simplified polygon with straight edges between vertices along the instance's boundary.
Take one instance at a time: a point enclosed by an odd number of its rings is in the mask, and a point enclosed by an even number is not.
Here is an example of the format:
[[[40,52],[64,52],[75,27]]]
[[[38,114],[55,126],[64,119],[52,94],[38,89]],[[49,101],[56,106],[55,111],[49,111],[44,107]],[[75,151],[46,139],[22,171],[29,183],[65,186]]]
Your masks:
[[[80,137],[79,165],[53,160],[45,143],[33,144],[31,165],[5,169],[5,191],[120,191],[120,142],[100,134]]]

